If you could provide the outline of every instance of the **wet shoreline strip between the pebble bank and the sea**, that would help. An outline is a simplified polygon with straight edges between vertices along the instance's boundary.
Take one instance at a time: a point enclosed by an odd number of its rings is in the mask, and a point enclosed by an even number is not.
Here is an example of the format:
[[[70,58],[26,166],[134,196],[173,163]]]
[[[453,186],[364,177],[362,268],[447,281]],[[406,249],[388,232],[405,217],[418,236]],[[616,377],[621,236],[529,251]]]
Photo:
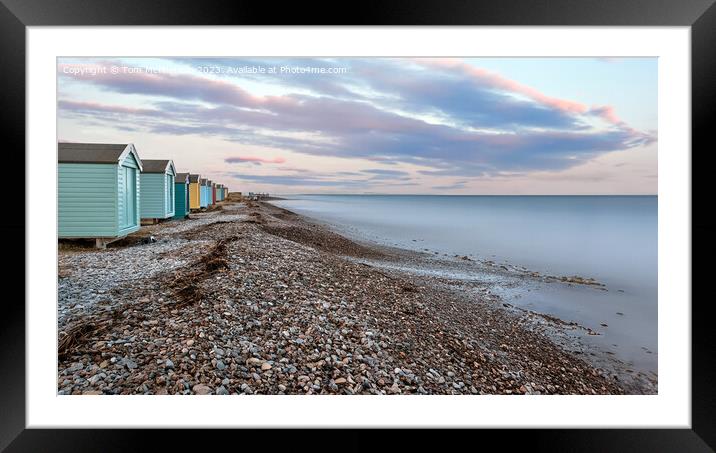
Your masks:
[[[279,205],[278,208],[290,209],[290,206]],[[312,223],[359,243],[403,252],[404,262],[374,261],[372,264],[377,267],[400,271],[413,278],[430,278],[437,284],[447,284],[454,289],[473,291],[478,298],[484,294],[491,294],[500,300],[504,309],[522,316],[525,324],[529,324],[530,328],[546,334],[562,349],[583,358],[594,367],[618,379],[622,387],[630,393],[657,393],[658,375],[655,365],[652,367],[648,358],[641,359],[640,362],[637,359],[637,363],[634,363],[633,356],[633,350],[637,348],[640,352],[643,351],[642,354],[654,354],[654,352],[637,342],[627,347],[626,353],[621,351],[623,344],[621,342],[614,344],[618,340],[614,339],[614,332],[609,332],[611,329],[607,329],[614,327],[611,322],[607,325],[602,320],[569,316],[569,310],[561,310],[561,313],[559,309],[550,310],[550,303],[535,306],[534,303],[521,301],[524,297],[530,297],[530,294],[531,300],[534,300],[536,293],[542,294],[541,297],[546,297],[546,300],[549,300],[550,295],[557,295],[564,300],[566,297],[584,297],[602,291],[621,293],[623,292],[621,289],[615,290],[614,287],[584,274],[560,275],[530,269],[507,260],[497,261],[494,255],[493,258],[488,259],[472,254],[460,254],[460,250],[453,250],[453,253],[458,252],[458,254],[452,254],[417,245],[410,247],[409,242],[393,243],[393,240],[365,234],[347,223],[315,219],[306,213],[300,215],[305,216]],[[552,305],[552,307],[556,306]],[[616,314],[624,316],[621,312]]]

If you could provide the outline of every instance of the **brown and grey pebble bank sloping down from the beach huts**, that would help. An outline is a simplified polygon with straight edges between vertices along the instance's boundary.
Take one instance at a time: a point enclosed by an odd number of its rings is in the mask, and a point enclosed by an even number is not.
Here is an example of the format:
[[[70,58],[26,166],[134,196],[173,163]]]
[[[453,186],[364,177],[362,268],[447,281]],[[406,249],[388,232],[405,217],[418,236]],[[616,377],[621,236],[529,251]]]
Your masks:
[[[58,393],[637,392],[480,285],[376,264],[418,253],[270,203],[147,233],[157,242],[60,248]]]

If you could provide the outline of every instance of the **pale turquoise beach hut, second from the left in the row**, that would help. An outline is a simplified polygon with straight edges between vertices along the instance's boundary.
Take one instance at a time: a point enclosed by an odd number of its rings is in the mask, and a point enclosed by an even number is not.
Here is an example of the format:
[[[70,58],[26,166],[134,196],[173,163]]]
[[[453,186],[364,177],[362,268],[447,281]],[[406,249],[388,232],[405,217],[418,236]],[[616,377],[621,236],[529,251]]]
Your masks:
[[[157,221],[174,217],[176,169],[167,159],[142,161],[140,212],[142,219]]]

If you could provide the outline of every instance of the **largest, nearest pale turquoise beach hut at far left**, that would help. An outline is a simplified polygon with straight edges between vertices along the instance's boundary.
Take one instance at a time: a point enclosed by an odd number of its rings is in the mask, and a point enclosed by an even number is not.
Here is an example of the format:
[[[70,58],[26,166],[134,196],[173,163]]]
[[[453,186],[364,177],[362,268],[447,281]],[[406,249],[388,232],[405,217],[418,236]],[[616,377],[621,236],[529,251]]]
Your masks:
[[[131,143],[59,143],[57,236],[105,248],[137,231],[142,168]]]

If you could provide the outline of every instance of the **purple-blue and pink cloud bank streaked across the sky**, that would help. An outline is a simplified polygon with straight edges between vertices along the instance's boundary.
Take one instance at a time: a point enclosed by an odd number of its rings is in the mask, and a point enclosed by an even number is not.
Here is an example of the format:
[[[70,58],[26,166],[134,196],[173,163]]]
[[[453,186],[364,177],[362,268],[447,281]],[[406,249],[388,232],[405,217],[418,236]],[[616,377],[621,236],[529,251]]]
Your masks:
[[[288,60],[286,60],[288,61]],[[297,60],[290,60],[296,64]],[[236,67],[276,65],[256,59],[174,59],[186,68],[197,64]],[[77,71],[61,63],[63,82],[141,99],[138,105],[77,100],[60,90],[61,117],[137,133],[196,135],[230,143],[270,147],[277,152],[410,164],[424,177],[481,177],[504,172],[563,170],[605,153],[628,150],[656,140],[620,119],[610,105],[542,93],[518,81],[456,59],[304,59],[301,64],[344,64],[344,75],[302,74],[211,76],[136,72]],[[94,61],[97,67],[117,64]],[[223,66],[222,66],[223,65]],[[81,65],[80,65],[81,66]],[[258,94],[252,84],[280,86],[282,94]],[[283,157],[237,155],[226,165],[285,163]],[[400,170],[374,169],[370,179],[401,179]],[[252,178],[247,175],[244,179]],[[324,178],[275,175],[272,183],[328,184]],[[293,179],[290,179],[293,178]],[[343,175],[344,184],[364,180]],[[357,182],[356,182],[357,181]],[[434,188],[460,188],[463,180]]]

